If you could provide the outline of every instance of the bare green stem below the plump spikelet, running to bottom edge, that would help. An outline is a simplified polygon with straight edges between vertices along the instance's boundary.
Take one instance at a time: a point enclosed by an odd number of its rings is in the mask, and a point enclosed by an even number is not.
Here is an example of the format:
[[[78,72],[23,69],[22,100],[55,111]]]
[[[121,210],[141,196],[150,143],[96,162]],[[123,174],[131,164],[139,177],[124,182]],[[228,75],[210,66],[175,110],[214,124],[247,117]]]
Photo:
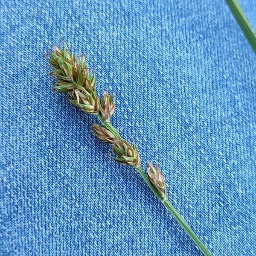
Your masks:
[[[163,203],[163,205],[173,215],[173,217],[177,220],[177,222],[180,224],[180,226],[183,227],[183,229],[190,236],[190,238],[194,241],[194,243],[201,250],[201,252],[205,256],[211,256],[211,253],[207,250],[207,248],[204,246],[204,244],[200,241],[200,239],[195,234],[195,232],[189,227],[189,225],[182,218],[182,216],[179,214],[179,212],[177,212],[177,210],[173,207],[172,203],[169,200],[166,200],[164,202],[162,201],[162,198],[158,195],[157,191],[154,189],[154,187],[150,183],[147,175],[145,175],[145,172],[143,172],[142,168],[139,167],[136,170],[139,172],[140,176],[143,178],[143,180],[148,185],[148,187],[151,189],[151,191],[154,193],[154,195]]]

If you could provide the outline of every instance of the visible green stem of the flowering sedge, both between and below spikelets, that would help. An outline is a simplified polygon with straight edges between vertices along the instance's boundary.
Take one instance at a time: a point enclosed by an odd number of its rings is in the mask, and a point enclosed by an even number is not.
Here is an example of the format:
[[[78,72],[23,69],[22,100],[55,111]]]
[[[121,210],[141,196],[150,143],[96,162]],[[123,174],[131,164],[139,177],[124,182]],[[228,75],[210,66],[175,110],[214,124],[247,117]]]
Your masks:
[[[97,116],[99,121],[108,128],[109,131],[111,131],[116,139],[121,140],[121,136],[118,131],[116,131],[116,128],[111,125],[110,122],[105,122],[101,116]],[[190,236],[190,238],[195,242],[195,244],[198,246],[198,248],[201,250],[201,252],[205,256],[211,256],[211,253],[207,250],[207,248],[204,246],[204,244],[200,241],[198,236],[194,233],[194,231],[189,227],[189,225],[186,223],[186,221],[182,218],[182,216],[177,212],[177,210],[173,207],[171,202],[168,199],[162,199],[160,195],[158,194],[157,190],[152,186],[150,180],[148,179],[148,176],[145,174],[143,169],[141,167],[135,168],[137,172],[140,174],[140,176],[143,178],[145,183],[148,185],[148,187],[151,189],[153,194],[161,201],[161,203],[166,207],[166,209],[173,215],[173,217],[177,220],[177,222],[180,224],[181,227],[186,231],[186,233]]]

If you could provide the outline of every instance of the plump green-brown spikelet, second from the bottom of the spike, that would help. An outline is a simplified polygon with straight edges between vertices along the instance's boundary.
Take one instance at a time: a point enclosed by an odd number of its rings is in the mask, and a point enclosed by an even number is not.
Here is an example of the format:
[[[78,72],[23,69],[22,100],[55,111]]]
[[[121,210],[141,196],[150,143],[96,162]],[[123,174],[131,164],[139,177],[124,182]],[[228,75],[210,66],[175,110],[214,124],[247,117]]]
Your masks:
[[[128,166],[134,166],[135,168],[140,167],[140,155],[135,143],[131,146],[131,144],[125,140],[116,140],[111,149],[117,156],[111,157],[117,162]]]

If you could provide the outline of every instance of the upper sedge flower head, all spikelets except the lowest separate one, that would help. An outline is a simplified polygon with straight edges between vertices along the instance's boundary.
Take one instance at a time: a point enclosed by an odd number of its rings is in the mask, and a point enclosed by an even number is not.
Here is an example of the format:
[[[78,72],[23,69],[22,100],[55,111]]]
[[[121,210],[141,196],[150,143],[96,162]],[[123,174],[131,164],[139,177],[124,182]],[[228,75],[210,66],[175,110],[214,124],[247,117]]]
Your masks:
[[[76,58],[64,42],[64,49],[55,45],[46,58],[52,69],[50,74],[56,80],[55,91],[68,94],[69,101],[73,105],[87,114],[97,116],[102,122],[102,125],[93,124],[92,131],[99,140],[112,145],[111,149],[114,153],[112,158],[128,166],[140,167],[140,156],[136,145],[132,146],[122,140],[113,132],[112,126],[107,125],[115,110],[115,96],[103,92],[98,98],[95,72],[90,75],[85,55]]]

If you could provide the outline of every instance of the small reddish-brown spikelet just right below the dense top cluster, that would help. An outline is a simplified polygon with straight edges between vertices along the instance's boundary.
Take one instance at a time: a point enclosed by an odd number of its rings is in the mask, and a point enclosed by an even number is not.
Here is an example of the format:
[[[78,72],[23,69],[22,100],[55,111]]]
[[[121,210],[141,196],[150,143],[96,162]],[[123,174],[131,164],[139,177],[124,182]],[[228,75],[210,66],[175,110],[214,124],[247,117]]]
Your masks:
[[[103,92],[100,98],[100,116],[106,122],[110,121],[116,107],[116,96],[112,93]]]

